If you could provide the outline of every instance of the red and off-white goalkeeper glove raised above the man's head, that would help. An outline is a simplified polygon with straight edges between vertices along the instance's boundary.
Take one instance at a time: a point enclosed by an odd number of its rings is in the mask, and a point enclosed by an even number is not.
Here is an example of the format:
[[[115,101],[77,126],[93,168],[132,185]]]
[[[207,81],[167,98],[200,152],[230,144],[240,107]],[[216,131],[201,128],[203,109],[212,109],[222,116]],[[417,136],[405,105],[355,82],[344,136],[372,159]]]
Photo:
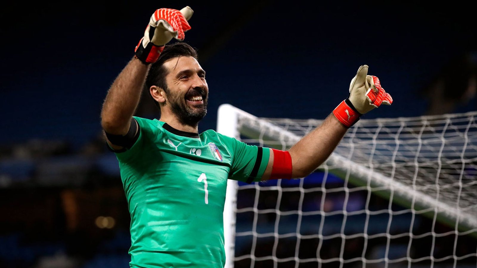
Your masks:
[[[187,22],[194,11],[189,7],[183,9],[158,9],[152,14],[144,37],[137,44],[134,52],[136,58],[144,63],[154,63],[164,50],[166,43],[176,38],[184,40],[184,32],[190,30]]]

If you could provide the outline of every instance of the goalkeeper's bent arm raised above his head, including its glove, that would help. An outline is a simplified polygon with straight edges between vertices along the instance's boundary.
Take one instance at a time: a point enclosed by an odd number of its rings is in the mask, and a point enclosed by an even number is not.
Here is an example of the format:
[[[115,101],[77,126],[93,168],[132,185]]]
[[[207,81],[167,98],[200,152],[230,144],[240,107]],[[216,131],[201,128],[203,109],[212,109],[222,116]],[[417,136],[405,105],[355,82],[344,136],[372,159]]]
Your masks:
[[[141,97],[149,64],[154,63],[166,43],[176,38],[184,40],[190,29],[187,22],[192,9],[158,9],[151,16],[144,37],[135,48],[135,56],[128,62],[111,85],[101,111],[101,125],[107,136],[128,133],[131,118]],[[109,140],[111,140],[108,137]]]

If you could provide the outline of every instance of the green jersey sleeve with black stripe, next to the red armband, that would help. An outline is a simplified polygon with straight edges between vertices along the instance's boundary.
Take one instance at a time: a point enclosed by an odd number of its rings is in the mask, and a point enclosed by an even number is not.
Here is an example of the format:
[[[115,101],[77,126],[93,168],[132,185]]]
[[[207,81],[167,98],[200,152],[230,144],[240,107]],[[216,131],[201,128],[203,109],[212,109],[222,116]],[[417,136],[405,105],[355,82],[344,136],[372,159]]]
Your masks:
[[[235,138],[229,138],[232,149],[232,167],[228,178],[252,183],[260,181],[267,168],[270,149],[249,145]]]

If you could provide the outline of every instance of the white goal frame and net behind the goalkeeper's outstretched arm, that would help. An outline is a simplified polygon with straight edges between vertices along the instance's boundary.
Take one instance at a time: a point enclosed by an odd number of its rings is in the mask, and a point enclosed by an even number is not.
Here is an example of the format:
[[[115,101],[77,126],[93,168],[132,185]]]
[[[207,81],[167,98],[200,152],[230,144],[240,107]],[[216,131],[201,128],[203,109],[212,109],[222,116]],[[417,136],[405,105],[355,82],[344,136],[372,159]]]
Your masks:
[[[361,119],[306,178],[230,181],[227,267],[476,268],[476,116]],[[320,124],[218,113],[218,132],[281,150]]]

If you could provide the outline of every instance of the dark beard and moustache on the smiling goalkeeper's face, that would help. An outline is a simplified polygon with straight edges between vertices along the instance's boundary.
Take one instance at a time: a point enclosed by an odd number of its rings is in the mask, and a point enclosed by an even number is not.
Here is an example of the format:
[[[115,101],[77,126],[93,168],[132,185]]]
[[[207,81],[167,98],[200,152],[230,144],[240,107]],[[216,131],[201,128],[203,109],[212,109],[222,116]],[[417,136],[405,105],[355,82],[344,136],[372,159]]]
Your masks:
[[[189,105],[189,103],[187,103],[185,96],[193,93],[202,96],[202,104]],[[172,113],[177,116],[181,124],[196,127],[199,124],[199,121],[207,114],[208,95],[203,89],[193,89],[186,93],[185,96],[170,94],[169,104],[171,105]]]

